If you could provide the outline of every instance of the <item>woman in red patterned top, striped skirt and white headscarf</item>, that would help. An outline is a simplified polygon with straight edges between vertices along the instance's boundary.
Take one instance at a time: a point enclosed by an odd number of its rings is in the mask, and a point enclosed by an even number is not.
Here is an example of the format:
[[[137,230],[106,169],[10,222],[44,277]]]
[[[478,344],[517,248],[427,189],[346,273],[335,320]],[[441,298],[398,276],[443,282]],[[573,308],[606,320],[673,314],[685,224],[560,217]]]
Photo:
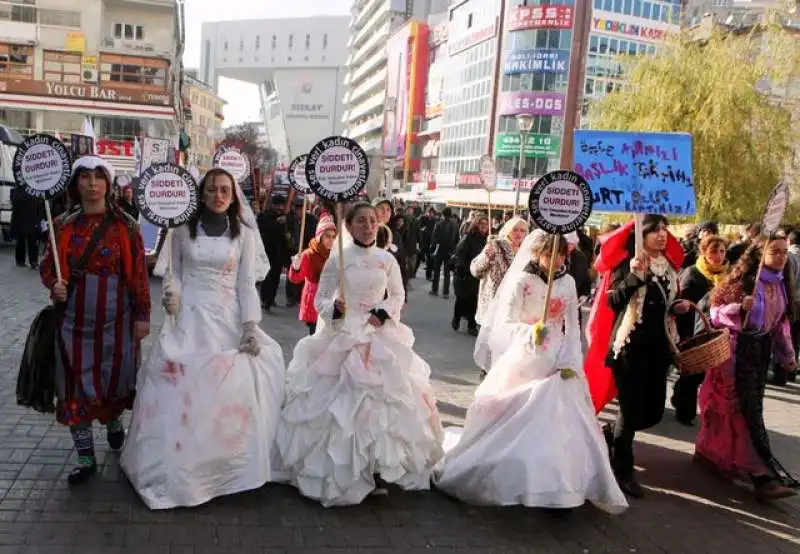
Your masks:
[[[41,264],[42,283],[63,305],[56,332],[56,418],[70,428],[78,452],[71,485],[97,471],[94,420],[106,425],[109,446],[122,448],[120,416],[133,406],[139,343],[150,331],[144,245],[136,222],[109,202],[113,182],[114,170],[102,158],[75,162],[68,194],[78,209],[54,224],[62,280],[50,245]],[[99,240],[77,268],[95,233]]]

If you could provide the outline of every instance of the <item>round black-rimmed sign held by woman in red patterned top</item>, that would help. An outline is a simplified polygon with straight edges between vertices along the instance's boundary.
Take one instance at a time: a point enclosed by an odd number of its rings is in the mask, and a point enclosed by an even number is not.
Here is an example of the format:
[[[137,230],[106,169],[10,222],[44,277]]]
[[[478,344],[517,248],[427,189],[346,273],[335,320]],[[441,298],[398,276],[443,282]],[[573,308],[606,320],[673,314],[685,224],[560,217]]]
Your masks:
[[[14,180],[28,196],[50,199],[67,188],[72,160],[63,142],[50,135],[34,135],[17,148],[12,163]]]

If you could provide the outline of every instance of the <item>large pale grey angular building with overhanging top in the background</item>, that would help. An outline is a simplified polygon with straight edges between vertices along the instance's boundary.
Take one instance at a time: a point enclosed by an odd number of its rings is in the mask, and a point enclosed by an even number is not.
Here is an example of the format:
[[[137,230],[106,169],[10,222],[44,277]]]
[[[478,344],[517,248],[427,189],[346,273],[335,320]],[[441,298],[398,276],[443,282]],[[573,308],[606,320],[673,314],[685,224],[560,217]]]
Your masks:
[[[288,164],[342,132],[348,23],[347,16],[204,23],[198,77],[214,91],[220,77],[258,85],[270,146]]]

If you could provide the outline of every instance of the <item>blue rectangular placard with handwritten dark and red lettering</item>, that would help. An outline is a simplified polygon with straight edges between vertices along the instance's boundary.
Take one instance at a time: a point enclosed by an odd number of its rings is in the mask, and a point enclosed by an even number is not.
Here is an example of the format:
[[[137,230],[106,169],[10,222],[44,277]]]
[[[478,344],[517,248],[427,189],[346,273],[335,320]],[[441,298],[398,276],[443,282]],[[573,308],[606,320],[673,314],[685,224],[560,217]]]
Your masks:
[[[575,172],[595,212],[695,215],[692,167],[689,134],[575,131]]]

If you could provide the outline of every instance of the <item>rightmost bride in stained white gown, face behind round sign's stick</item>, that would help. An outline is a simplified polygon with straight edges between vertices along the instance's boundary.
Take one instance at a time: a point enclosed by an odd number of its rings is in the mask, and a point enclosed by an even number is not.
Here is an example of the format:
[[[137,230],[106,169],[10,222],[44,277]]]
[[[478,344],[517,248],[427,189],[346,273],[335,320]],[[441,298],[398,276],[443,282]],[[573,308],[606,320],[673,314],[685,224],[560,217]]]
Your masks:
[[[464,429],[447,431],[438,488],[465,502],[568,509],[627,507],[583,377],[578,297],[563,267],[567,242],[528,235],[484,319],[498,353]],[[555,255],[547,317],[547,268]],[[565,329],[566,332],[562,331]]]

